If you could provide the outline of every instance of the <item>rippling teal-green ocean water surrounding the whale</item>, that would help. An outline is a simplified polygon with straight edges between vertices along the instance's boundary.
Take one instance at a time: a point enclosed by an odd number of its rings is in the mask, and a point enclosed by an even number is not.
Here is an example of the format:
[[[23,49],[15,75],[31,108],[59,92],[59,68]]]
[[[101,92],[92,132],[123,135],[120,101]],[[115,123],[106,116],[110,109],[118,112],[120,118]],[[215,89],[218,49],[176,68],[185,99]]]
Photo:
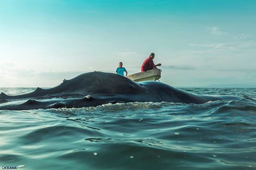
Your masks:
[[[182,90],[241,98],[1,110],[0,169],[256,169],[256,89]]]

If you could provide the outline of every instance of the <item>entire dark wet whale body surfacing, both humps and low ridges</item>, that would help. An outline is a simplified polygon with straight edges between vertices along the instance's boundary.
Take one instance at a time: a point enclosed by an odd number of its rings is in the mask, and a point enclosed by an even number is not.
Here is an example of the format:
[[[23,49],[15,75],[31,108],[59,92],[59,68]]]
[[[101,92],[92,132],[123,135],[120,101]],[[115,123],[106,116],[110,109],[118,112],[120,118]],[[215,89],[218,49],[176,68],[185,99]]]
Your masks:
[[[158,81],[136,83],[113,73],[89,72],[50,89],[37,87],[34,92],[18,96],[0,93],[0,110],[88,107],[135,101],[201,104],[234,98],[238,97],[190,94]]]

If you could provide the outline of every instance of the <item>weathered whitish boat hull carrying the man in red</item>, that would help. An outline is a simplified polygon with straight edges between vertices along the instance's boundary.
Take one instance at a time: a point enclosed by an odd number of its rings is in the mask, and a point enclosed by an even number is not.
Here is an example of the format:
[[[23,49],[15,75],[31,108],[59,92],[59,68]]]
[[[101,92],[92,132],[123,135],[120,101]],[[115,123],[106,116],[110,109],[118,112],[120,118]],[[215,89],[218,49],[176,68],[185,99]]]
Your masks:
[[[148,70],[145,72],[139,72],[135,74],[131,74],[127,76],[127,78],[130,78],[133,81],[156,81],[161,78],[161,72],[162,70],[160,69],[153,69],[153,70]]]

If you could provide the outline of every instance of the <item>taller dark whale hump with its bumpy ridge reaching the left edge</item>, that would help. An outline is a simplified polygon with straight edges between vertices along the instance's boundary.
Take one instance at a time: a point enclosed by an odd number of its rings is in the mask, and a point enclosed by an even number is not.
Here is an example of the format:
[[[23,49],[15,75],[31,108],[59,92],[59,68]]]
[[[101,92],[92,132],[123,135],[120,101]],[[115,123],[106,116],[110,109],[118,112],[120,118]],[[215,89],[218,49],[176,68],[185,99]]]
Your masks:
[[[58,86],[50,89],[37,87],[34,92],[18,96],[8,96],[0,94],[0,99],[20,99],[29,97],[49,96],[49,95],[88,95],[88,94],[138,94],[145,93],[144,87],[135,81],[123,76],[105,72],[89,72],[66,80]]]

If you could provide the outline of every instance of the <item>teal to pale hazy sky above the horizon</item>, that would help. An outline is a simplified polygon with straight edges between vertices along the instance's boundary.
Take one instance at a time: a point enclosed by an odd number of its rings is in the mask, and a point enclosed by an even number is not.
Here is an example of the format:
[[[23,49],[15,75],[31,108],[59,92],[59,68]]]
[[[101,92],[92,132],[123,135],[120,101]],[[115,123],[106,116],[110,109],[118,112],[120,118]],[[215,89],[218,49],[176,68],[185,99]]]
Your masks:
[[[53,87],[94,70],[171,86],[256,85],[256,1],[0,0],[0,87]]]

